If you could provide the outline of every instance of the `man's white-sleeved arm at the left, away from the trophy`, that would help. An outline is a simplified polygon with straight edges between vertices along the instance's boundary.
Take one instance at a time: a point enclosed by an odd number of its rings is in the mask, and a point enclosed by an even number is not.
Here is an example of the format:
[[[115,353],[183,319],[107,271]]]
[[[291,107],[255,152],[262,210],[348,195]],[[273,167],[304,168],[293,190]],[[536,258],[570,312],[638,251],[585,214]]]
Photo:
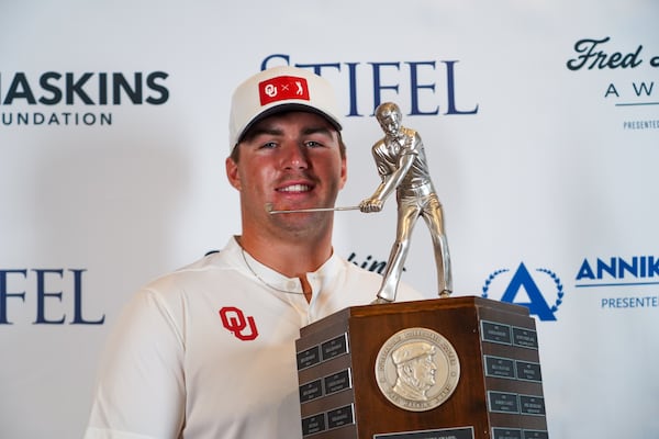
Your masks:
[[[85,439],[176,439],[185,418],[182,340],[171,311],[136,294],[108,340]]]

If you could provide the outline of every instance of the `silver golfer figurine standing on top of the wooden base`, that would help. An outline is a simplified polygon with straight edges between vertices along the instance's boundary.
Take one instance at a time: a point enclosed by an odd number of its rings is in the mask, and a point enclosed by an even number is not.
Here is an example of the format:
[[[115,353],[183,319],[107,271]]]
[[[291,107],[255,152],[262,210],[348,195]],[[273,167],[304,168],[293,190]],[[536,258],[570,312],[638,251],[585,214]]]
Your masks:
[[[414,130],[401,125],[403,116],[395,103],[378,105],[376,117],[384,132],[384,137],[372,147],[382,182],[370,198],[359,203],[359,207],[361,212],[380,212],[393,191],[396,191],[398,200],[395,241],[376,302],[386,303],[395,299],[412,229],[420,216],[425,219],[433,238],[439,296],[448,296],[453,291],[453,281],[442,204],[431,180],[421,137]]]

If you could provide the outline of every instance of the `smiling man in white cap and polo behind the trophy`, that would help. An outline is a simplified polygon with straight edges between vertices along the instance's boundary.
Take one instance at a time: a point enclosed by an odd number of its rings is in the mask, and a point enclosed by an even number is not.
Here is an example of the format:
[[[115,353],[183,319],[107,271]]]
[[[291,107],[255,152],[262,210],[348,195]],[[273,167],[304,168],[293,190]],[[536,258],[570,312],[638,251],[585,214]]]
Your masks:
[[[346,182],[334,91],[278,67],[235,90],[226,175],[242,234],[146,285],[102,359],[86,439],[301,438],[299,330],[372,300],[380,277],[334,254]],[[404,289],[403,300],[423,299]]]

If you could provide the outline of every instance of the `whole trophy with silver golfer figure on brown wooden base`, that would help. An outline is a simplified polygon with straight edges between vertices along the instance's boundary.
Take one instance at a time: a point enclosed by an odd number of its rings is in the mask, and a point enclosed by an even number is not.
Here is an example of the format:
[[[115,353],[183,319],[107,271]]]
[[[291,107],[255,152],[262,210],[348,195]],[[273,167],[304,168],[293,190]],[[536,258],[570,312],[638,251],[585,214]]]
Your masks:
[[[381,183],[358,206],[315,210],[379,212],[395,192],[396,237],[372,304],[300,330],[303,438],[547,439],[535,320],[523,306],[449,297],[442,204],[421,137],[401,125],[394,103],[376,116],[384,132],[372,147]],[[284,212],[299,211],[271,213]],[[434,244],[439,297],[395,303],[420,216]]]

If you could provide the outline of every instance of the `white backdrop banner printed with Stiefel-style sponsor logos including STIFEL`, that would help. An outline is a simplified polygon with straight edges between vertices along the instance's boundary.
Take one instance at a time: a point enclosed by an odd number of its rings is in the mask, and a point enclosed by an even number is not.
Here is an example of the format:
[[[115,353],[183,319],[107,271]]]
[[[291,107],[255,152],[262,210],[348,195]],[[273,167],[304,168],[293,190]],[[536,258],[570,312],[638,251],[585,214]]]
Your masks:
[[[228,100],[276,65],[338,90],[342,205],[379,182],[380,102],[420,132],[455,294],[536,319],[551,438],[658,437],[658,16],[654,0],[1,1],[0,437],[81,437],[122,305],[239,233]],[[393,200],[339,212],[335,250],[381,272],[394,229]],[[423,222],[403,281],[437,293]]]

